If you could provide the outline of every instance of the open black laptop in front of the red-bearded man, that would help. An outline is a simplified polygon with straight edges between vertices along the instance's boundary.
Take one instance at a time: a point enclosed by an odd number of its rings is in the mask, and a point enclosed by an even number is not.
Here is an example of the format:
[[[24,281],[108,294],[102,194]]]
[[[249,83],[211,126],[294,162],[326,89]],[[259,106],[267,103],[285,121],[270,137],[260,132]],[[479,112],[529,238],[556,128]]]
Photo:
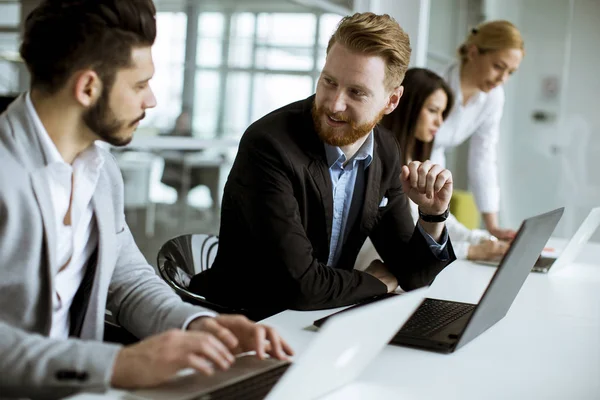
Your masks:
[[[451,353],[504,318],[563,211],[523,221],[479,304],[426,298],[391,343]]]

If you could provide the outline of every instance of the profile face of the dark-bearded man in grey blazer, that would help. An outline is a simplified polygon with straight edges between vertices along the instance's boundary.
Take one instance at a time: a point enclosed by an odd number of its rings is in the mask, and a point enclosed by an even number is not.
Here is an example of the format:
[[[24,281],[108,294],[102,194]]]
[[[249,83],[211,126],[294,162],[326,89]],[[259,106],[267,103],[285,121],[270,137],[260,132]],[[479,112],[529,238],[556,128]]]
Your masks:
[[[114,83],[104,90],[83,119],[101,140],[125,146],[145,117],[145,110],[156,106],[149,81],[154,75],[150,47],[134,48],[131,66],[117,71]]]

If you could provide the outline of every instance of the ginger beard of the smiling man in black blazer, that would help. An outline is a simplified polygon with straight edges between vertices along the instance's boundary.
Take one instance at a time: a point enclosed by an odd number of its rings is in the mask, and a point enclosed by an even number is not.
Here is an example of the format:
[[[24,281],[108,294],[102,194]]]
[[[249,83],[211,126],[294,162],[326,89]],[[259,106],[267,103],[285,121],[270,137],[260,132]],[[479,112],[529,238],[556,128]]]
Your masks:
[[[357,125],[356,121],[344,115],[343,113],[331,114],[324,107],[317,107],[316,102],[313,102],[311,114],[313,117],[315,130],[317,131],[317,134],[321,140],[331,146],[342,147],[355,143],[360,138],[369,134],[375,125],[381,121],[385,115],[385,110],[381,110],[372,121],[365,122],[364,124],[360,125]],[[328,116],[338,121],[344,121],[347,123],[347,125],[339,128],[333,128],[326,123],[322,123],[322,120]],[[344,130],[344,133],[341,132],[342,130]]]

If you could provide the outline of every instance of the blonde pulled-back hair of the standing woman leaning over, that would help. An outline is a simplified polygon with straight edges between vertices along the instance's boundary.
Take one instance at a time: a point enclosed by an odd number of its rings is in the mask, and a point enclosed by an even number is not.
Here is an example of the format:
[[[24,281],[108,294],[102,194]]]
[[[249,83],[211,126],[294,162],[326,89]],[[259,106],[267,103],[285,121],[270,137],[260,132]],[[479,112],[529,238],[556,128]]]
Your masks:
[[[472,45],[475,45],[481,53],[519,49],[525,55],[525,43],[521,32],[511,22],[504,20],[483,22],[471,30],[467,39],[458,48],[458,56],[463,64],[467,61],[469,47]]]

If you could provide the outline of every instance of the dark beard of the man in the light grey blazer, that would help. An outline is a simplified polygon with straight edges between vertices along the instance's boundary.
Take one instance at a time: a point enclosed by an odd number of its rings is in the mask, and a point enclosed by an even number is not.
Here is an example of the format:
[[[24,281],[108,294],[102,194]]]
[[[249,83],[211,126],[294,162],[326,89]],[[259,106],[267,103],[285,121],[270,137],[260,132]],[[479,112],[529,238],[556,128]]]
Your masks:
[[[125,146],[131,142],[133,135],[120,137],[119,132],[126,128],[133,127],[136,123],[144,119],[146,113],[142,113],[139,118],[133,122],[127,122],[117,119],[115,113],[108,105],[108,91],[104,91],[96,104],[83,114],[85,124],[103,140],[113,146]]]

